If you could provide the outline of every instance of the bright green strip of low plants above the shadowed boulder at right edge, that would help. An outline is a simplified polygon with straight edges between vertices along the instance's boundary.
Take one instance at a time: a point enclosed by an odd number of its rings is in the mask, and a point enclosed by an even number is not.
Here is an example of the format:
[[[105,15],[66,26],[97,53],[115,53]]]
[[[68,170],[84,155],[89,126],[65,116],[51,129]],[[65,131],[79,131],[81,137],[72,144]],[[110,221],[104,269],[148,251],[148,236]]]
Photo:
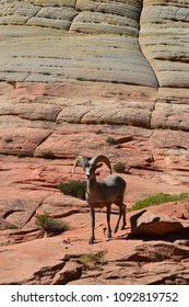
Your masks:
[[[160,205],[169,202],[182,201],[189,197],[188,193],[180,193],[180,194],[163,194],[158,193],[155,195],[151,195],[144,200],[138,201],[131,207],[131,211],[142,209],[152,205]]]

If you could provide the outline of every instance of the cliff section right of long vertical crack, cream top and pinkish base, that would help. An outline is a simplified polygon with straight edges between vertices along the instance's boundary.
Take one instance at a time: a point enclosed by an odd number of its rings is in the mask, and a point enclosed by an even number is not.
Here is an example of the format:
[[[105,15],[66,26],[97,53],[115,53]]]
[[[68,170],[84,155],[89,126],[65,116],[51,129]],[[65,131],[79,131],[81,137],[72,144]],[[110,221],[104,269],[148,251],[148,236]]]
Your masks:
[[[152,128],[189,126],[189,2],[144,0],[140,46],[160,89]]]

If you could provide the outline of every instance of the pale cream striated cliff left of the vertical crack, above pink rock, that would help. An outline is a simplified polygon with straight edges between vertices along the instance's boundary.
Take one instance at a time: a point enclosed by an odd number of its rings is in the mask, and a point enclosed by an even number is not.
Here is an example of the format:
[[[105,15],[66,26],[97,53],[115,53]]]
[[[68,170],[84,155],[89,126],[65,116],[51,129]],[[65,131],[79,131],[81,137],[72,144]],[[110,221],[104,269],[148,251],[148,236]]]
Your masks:
[[[138,42],[141,9],[135,0],[3,2],[0,79],[157,87]]]

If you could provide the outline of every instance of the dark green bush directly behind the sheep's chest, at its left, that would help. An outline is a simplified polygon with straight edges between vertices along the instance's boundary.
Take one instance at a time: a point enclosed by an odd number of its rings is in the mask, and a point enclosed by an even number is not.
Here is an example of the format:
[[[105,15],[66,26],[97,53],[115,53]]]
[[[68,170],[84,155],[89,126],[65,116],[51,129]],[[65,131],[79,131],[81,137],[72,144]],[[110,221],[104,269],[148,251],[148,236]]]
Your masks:
[[[58,189],[60,189],[60,191],[66,195],[85,200],[86,182],[84,181],[70,181],[60,183]]]

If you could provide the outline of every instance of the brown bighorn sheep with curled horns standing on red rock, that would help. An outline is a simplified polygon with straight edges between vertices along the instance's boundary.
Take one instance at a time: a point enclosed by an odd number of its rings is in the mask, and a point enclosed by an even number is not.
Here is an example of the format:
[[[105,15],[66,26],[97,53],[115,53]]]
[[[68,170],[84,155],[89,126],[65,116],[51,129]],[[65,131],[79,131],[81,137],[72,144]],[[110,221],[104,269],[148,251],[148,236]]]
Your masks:
[[[122,216],[122,227],[126,226],[126,205],[123,204],[123,194],[126,190],[126,181],[116,174],[110,174],[104,180],[96,180],[95,170],[103,166],[103,162],[109,168],[111,173],[111,166],[107,157],[97,156],[91,160],[85,157],[78,156],[74,160],[72,174],[78,166],[82,167],[86,177],[86,194],[85,198],[91,209],[92,218],[92,236],[90,243],[94,243],[94,228],[95,228],[95,208],[107,207],[107,238],[111,238],[110,228],[110,207],[111,204],[116,204],[119,207],[119,217],[114,232],[117,232],[119,221]]]

